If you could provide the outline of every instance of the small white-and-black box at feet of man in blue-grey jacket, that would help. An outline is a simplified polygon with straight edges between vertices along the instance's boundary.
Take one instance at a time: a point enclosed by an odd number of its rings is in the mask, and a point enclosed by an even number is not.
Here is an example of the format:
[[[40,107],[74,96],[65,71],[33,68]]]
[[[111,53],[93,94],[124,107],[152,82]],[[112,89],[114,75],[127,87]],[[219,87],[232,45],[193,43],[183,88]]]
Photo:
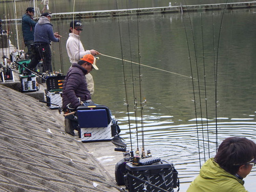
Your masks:
[[[36,77],[35,75],[19,75],[21,83],[20,91],[22,92],[34,92],[37,91]]]

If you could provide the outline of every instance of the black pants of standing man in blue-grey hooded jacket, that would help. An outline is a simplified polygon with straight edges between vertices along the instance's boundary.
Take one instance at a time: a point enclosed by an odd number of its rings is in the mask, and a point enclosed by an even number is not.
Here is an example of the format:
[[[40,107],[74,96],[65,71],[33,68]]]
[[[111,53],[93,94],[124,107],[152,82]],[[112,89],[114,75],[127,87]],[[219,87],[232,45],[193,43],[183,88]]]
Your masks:
[[[42,69],[42,72],[52,72],[52,53],[50,44],[46,42],[35,42],[34,51],[35,53],[32,56],[30,63],[28,64],[28,68],[30,70],[33,70],[42,59],[42,61],[44,61],[44,67]]]

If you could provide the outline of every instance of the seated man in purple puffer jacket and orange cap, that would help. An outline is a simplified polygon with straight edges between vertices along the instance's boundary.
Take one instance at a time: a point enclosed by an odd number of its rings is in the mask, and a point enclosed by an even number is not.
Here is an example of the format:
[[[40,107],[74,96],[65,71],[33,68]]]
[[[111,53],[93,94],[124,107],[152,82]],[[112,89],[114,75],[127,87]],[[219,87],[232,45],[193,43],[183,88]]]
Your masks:
[[[69,109],[75,111],[81,105],[80,101],[85,103],[92,101],[85,75],[93,69],[98,70],[96,59],[91,54],[84,55],[81,60],[73,63],[72,67],[69,68],[62,88],[62,110],[64,113],[71,112]],[[74,136],[74,130],[77,130],[78,126],[77,118],[74,115],[69,115],[66,119],[71,120],[71,126],[65,126],[65,130],[68,134]]]

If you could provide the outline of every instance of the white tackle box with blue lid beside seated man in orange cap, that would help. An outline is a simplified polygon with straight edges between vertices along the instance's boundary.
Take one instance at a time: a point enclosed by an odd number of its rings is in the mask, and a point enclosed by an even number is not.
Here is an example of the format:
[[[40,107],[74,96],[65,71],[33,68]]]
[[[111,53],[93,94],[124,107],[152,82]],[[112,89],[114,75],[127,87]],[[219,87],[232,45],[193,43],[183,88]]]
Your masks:
[[[112,119],[107,106],[81,105],[76,112],[83,143],[112,140],[114,130],[111,129]]]

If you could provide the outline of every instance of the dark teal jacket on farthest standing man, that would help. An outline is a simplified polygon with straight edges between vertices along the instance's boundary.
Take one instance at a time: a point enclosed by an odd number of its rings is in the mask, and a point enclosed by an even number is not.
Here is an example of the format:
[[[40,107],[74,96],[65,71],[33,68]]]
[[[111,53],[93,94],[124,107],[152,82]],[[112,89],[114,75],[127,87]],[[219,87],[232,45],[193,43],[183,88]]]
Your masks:
[[[36,22],[28,13],[25,13],[22,16],[22,32],[25,42],[28,40],[34,40],[35,24]]]

